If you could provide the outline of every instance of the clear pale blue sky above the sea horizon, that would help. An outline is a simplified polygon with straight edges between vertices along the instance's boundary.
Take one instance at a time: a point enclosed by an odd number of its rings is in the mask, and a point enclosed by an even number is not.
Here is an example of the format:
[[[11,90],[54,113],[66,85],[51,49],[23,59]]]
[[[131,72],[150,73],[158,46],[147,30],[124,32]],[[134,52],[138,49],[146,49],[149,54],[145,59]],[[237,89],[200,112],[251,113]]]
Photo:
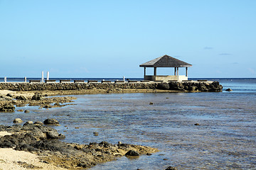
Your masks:
[[[143,77],[139,64],[162,55],[193,64],[188,77],[256,77],[255,9],[255,0],[0,0],[0,77]]]

